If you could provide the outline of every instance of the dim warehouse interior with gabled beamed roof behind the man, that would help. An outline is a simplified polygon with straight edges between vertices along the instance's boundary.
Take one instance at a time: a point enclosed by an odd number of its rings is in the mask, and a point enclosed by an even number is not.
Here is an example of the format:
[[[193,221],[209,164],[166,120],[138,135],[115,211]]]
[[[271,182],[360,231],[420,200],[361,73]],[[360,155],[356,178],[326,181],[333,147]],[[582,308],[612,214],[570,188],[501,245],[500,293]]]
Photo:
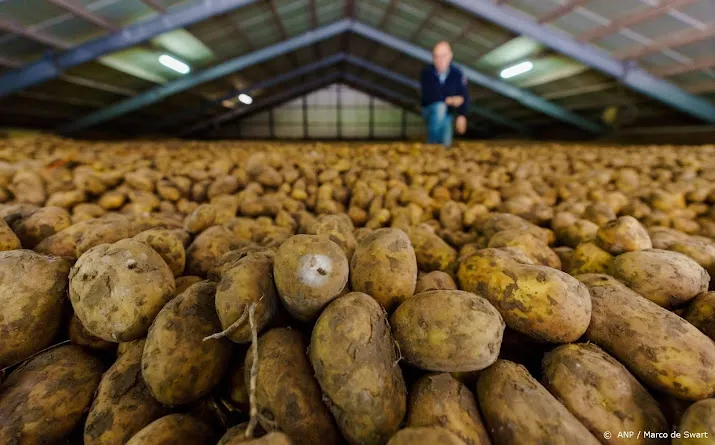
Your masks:
[[[419,72],[447,40],[469,78],[468,138],[704,140],[714,21],[707,0],[9,0],[0,126],[418,139]],[[528,69],[500,75],[514,66]]]

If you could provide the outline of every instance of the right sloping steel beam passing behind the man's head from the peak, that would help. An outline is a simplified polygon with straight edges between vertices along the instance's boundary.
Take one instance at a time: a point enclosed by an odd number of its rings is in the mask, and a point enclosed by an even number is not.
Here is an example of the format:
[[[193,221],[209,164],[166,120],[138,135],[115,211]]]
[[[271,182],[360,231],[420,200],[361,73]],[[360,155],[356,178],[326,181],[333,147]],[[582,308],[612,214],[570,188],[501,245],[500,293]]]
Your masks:
[[[470,4],[472,3],[470,2]],[[480,2],[480,4],[482,3]],[[422,62],[432,62],[432,53],[430,51],[420,46],[414,45],[410,42],[398,39],[397,37],[382,32],[379,29],[373,28],[363,23],[354,23],[352,26],[352,30],[353,32],[360,34],[367,39],[373,40],[382,45],[389,46],[397,51],[400,51],[404,54],[421,60]],[[552,116],[556,119],[560,119],[564,122],[568,122],[591,133],[601,133],[603,131],[600,125],[588,119],[584,119],[578,114],[572,113],[565,108],[560,107],[559,105],[556,105],[535,94],[530,93],[529,91],[522,90],[509,83],[482,74],[472,68],[466,66],[460,66],[460,68],[464,72],[467,79],[469,79],[470,81],[483,87],[489,88],[496,93],[516,100],[529,108],[548,114],[549,116]]]

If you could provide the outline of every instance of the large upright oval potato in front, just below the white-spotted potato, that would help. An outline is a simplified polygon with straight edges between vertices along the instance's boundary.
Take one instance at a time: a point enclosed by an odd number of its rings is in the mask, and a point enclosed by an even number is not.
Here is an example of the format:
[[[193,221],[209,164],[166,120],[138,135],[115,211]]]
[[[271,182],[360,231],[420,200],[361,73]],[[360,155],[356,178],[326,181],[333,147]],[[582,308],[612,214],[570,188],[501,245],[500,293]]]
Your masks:
[[[405,416],[406,391],[384,309],[360,292],[335,299],[313,327],[309,355],[343,437],[385,443]]]

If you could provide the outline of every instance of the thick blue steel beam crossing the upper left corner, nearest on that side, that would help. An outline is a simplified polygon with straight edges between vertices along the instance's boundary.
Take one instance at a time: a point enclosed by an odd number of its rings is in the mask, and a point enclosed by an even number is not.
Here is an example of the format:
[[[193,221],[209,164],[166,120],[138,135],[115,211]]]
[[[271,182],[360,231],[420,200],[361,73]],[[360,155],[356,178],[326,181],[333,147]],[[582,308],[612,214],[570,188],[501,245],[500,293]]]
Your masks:
[[[43,57],[0,76],[0,98],[15,91],[58,77],[64,70],[95,60],[105,54],[137,45],[159,34],[183,28],[251,5],[258,0],[199,0],[183,8],[143,20],[107,36],[90,40],[61,54]]]

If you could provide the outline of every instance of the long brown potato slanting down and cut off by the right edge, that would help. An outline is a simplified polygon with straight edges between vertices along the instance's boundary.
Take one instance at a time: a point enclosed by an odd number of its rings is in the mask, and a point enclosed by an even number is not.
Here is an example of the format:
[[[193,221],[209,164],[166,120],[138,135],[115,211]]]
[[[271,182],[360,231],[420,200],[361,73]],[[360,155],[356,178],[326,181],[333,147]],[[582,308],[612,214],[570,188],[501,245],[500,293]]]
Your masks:
[[[591,293],[586,337],[643,382],[688,400],[715,394],[715,343],[613,277],[579,275]]]

